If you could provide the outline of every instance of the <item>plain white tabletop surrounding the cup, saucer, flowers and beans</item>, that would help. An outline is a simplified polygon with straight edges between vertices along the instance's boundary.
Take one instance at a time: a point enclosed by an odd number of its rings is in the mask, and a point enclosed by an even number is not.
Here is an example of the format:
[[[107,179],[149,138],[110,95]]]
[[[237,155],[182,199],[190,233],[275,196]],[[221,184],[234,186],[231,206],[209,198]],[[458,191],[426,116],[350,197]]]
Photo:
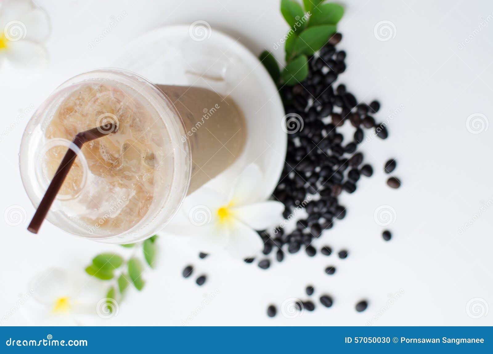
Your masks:
[[[278,0],[186,1],[48,1],[39,0],[51,17],[47,42],[50,64],[42,71],[0,68],[0,120],[3,130],[19,109],[37,107],[67,78],[96,67],[108,66],[125,45],[139,35],[167,24],[209,22],[245,44],[255,55],[273,49],[287,30]],[[389,123],[390,137],[364,143],[365,161],[375,174],[358,183],[357,193],[340,200],[348,216],[316,241],[334,251],[350,250],[347,259],[334,254],[309,258],[304,252],[274,262],[268,271],[255,264],[213,255],[200,260],[196,250],[161,238],[160,262],[145,274],[147,285],[120,304],[118,316],[87,323],[102,325],[180,325],[196,311],[190,325],[365,325],[386,305],[387,294],[401,290],[376,325],[492,325],[493,313],[479,319],[467,315],[466,304],[479,297],[493,306],[492,216],[486,209],[462,234],[458,228],[479,213],[482,202],[493,198],[493,128],[472,134],[466,119],[482,113],[493,119],[493,21],[473,33],[493,13],[491,1],[344,1],[346,13],[339,24],[347,51],[345,83],[358,100],[378,98],[385,120],[388,109],[404,108]],[[88,44],[111,22],[127,16],[90,50]],[[483,17],[482,17],[483,16]],[[391,21],[395,37],[379,41],[374,27]],[[485,22],[483,22],[485,23]],[[462,49],[458,43],[471,36]],[[274,54],[282,60],[283,50]],[[489,122],[488,122],[489,123]],[[3,191],[0,210],[18,204],[34,208],[21,184],[17,152],[27,119],[0,142]],[[386,186],[382,166],[398,161],[394,174],[403,186]],[[396,211],[390,242],[382,240],[383,227],[374,210],[390,205]],[[490,215],[491,214],[491,215]],[[0,220],[0,315],[16,305],[35,274],[49,267],[80,273],[101,251],[126,249],[77,239],[45,224],[39,235],[26,230],[28,220],[12,227]],[[196,273],[208,275],[203,287],[183,279],[182,268],[193,263]],[[327,276],[324,268],[338,270]],[[317,309],[287,319],[266,316],[270,303],[281,305],[289,297],[306,299],[305,286],[316,288]],[[202,306],[204,294],[217,296]],[[322,308],[317,297],[331,294],[334,305]],[[103,294],[102,294],[103,295]],[[103,296],[102,296],[103,297]],[[369,300],[363,313],[354,304]],[[34,300],[29,300],[34,301]],[[28,301],[28,302],[29,302]],[[33,320],[28,304],[5,325],[41,324]],[[493,310],[492,310],[493,311]]]

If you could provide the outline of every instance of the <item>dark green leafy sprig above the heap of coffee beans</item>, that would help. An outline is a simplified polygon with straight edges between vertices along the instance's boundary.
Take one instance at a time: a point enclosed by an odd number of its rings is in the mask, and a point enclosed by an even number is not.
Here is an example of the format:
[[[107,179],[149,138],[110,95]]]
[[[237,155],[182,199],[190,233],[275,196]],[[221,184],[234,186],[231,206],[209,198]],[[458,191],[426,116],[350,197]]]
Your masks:
[[[344,14],[341,5],[323,3],[323,0],[303,0],[303,8],[296,0],[281,0],[281,13],[290,27],[284,37],[286,65],[283,70],[271,52],[260,54],[260,61],[278,87],[296,85],[306,79],[308,57],[337,32],[337,23]]]

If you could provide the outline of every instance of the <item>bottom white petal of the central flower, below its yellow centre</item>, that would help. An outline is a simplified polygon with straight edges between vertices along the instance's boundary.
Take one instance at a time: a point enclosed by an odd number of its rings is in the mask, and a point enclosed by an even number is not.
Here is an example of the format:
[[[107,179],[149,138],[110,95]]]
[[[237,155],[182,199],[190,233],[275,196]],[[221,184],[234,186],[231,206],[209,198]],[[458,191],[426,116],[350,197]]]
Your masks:
[[[242,222],[235,221],[229,228],[226,251],[235,258],[246,258],[262,250],[263,242],[257,231]]]

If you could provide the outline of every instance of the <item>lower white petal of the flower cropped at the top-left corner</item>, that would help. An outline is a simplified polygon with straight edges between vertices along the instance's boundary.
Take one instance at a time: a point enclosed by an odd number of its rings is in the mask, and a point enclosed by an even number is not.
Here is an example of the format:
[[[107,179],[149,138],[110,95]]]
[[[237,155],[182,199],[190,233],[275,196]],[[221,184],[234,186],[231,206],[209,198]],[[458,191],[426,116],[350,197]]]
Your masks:
[[[11,64],[24,67],[39,67],[48,62],[46,49],[29,40],[8,42],[5,57]]]

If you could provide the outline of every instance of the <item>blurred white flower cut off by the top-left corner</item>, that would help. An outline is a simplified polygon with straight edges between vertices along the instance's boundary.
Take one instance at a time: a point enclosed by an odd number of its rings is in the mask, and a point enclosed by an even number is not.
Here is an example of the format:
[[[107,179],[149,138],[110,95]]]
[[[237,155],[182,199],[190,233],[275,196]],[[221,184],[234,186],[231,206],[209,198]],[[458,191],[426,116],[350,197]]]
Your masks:
[[[49,34],[48,15],[32,0],[0,2],[0,65],[5,60],[21,66],[45,63],[42,43]]]

